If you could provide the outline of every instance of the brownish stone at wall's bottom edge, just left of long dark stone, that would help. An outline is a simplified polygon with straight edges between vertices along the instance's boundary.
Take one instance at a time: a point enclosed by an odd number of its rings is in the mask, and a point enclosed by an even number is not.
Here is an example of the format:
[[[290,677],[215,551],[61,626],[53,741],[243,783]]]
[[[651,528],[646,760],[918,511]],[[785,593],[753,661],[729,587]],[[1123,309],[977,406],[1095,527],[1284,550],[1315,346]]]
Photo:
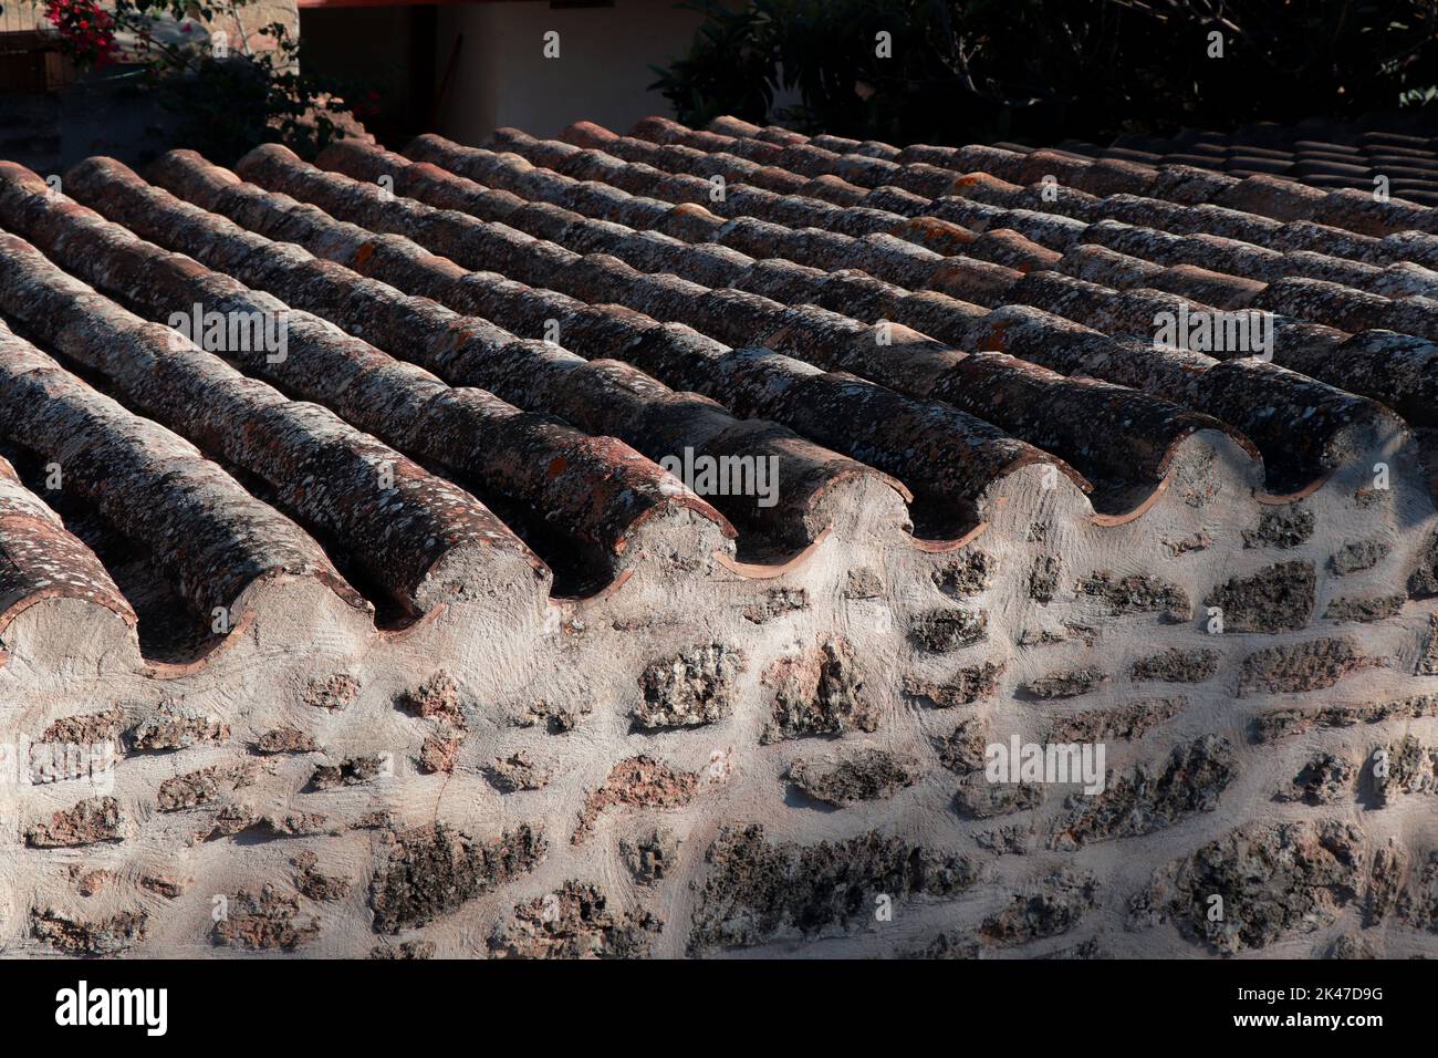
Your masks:
[[[515,907],[513,923],[489,939],[495,959],[643,959],[663,923],[650,911],[611,911],[600,885],[567,881]]]

